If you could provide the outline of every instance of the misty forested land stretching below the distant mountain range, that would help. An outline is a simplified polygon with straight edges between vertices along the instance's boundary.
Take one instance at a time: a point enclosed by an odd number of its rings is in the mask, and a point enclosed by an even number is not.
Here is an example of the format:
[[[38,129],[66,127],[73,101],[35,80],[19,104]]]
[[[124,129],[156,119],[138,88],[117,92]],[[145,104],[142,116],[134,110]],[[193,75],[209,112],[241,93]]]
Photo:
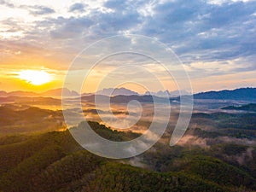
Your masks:
[[[139,97],[140,106],[132,108],[127,108],[134,99],[129,96],[113,100],[110,108],[96,108],[92,96],[81,98],[84,120],[111,141],[131,141],[147,131],[153,117],[159,126],[164,120],[154,113],[150,97]],[[69,100],[72,106],[79,103],[79,97]],[[179,115],[179,100],[172,98],[170,106],[160,105],[161,110],[171,108],[171,114],[158,143],[123,160],[82,148],[67,130],[58,98],[9,96],[0,101],[0,191],[256,190],[256,113],[251,101],[195,99],[188,130],[170,146]],[[80,113],[79,108],[63,110],[70,117]]]

